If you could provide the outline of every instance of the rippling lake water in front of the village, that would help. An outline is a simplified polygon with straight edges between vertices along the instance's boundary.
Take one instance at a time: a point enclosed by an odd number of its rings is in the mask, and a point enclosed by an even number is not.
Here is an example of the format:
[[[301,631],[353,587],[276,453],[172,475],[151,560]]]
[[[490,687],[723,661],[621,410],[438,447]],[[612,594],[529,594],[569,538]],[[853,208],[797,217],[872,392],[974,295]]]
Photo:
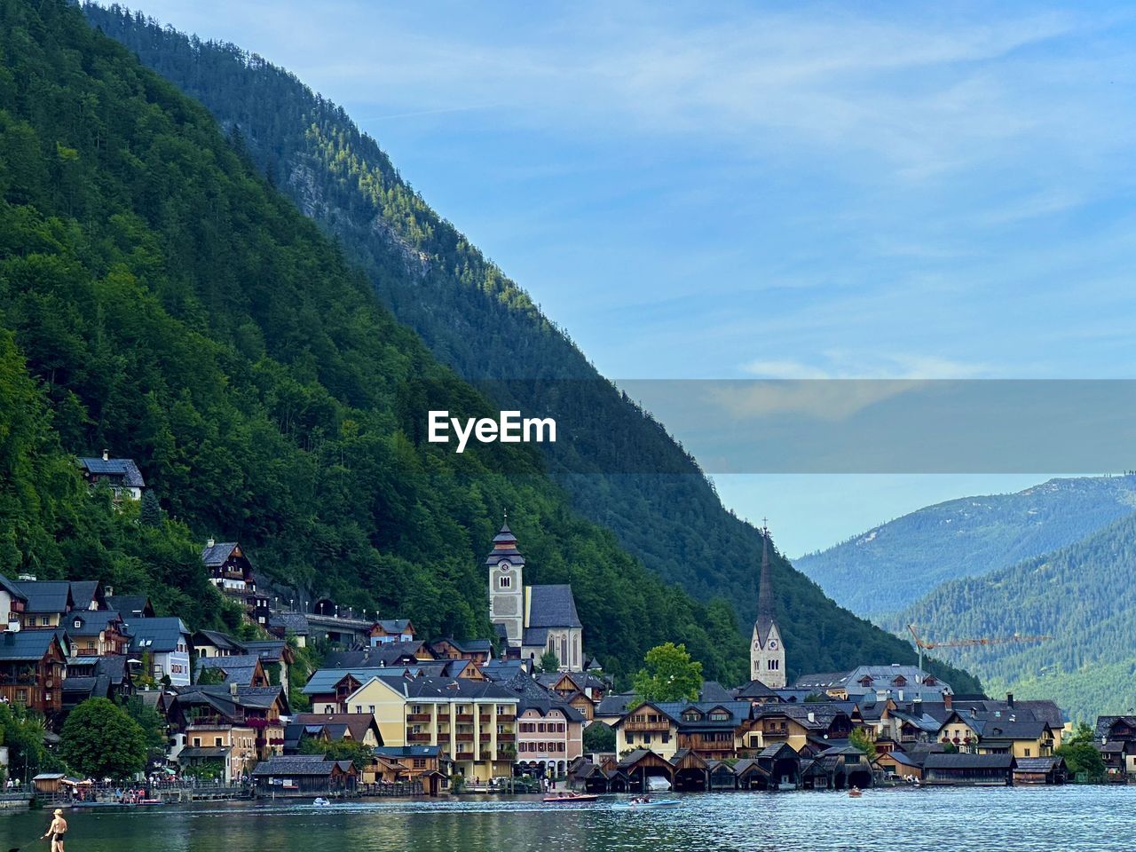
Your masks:
[[[1130,850],[1136,787],[713,793],[674,809],[544,807],[535,797],[248,802],[67,812],[68,852],[730,852]],[[45,850],[48,811],[0,812],[0,852]]]

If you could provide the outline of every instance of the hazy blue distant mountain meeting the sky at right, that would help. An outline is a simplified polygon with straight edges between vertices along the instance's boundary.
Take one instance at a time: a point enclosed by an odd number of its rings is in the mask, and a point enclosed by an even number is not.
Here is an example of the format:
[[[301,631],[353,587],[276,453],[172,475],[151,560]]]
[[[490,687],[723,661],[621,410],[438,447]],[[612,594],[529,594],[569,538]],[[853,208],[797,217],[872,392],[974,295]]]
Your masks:
[[[1136,509],[1136,476],[1050,479],[904,515],[796,560],[838,603],[894,612],[938,584],[982,576],[1080,541]]]

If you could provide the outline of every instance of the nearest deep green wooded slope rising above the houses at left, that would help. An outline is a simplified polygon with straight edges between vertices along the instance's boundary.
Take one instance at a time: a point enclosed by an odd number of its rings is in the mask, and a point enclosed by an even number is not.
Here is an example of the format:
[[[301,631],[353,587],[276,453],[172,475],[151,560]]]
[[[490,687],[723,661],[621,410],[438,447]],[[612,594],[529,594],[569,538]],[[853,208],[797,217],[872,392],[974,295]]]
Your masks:
[[[199,626],[218,608],[192,531],[239,537],[277,583],[486,635],[481,565],[508,507],[526,577],[574,585],[605,667],[674,640],[743,677],[728,608],[577,516],[540,457],[417,437],[415,402],[491,407],[204,108],[66,0],[0,0],[0,343],[5,573],[157,588]],[[140,462],[168,535],[87,499],[65,451],[103,446]]]

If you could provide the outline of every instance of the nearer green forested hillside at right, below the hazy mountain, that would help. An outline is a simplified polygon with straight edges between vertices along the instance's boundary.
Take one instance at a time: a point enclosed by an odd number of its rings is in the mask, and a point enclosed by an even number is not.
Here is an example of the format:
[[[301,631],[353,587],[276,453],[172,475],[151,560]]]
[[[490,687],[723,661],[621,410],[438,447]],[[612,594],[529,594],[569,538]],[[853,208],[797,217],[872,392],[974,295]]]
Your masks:
[[[991,691],[1052,698],[1075,718],[1136,707],[1136,513],[1009,568],[945,583],[889,620],[926,637],[1049,635],[1030,644],[939,649]]]

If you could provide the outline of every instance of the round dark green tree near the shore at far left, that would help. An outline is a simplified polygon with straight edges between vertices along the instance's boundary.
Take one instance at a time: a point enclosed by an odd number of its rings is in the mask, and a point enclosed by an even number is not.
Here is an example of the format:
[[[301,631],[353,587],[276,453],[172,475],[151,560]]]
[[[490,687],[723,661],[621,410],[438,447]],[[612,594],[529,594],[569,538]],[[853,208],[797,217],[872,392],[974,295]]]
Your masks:
[[[84,776],[117,780],[145,768],[147,733],[107,699],[72,710],[59,736],[59,757]]]

